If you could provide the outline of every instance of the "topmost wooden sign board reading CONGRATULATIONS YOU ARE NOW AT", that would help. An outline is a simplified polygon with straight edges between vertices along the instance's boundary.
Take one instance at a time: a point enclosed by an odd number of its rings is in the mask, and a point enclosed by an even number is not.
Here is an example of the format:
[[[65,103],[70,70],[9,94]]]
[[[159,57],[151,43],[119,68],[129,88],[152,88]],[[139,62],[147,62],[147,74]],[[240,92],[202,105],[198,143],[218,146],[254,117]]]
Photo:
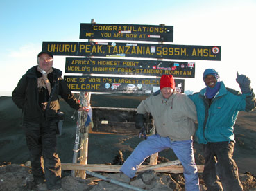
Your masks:
[[[80,24],[80,39],[173,42],[173,26]]]

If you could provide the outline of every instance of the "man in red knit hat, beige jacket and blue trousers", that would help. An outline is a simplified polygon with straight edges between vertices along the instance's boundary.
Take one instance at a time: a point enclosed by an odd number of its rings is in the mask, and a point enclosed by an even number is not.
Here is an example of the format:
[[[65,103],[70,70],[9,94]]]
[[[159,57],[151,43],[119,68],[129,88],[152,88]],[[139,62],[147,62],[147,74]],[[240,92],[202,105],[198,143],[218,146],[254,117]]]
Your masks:
[[[137,145],[123,163],[121,176],[133,178],[139,165],[156,152],[171,148],[184,168],[185,189],[199,190],[192,136],[195,132],[196,107],[183,93],[175,91],[172,75],[162,75],[160,93],[143,100],[137,107],[135,127],[144,126],[144,114],[151,113],[157,133]]]

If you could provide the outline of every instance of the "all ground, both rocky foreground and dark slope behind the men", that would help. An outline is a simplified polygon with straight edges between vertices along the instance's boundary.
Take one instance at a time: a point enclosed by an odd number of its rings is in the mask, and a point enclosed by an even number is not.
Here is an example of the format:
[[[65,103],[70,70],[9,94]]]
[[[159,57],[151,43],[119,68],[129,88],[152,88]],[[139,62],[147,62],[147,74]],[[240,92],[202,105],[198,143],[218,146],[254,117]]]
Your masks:
[[[122,97],[123,99],[123,97]],[[99,105],[96,101],[101,101]],[[113,107],[123,107],[118,98],[112,99]],[[126,98],[128,100],[128,98]],[[137,101],[136,104],[139,103]],[[94,106],[102,106],[105,98],[92,99]],[[133,102],[135,102],[133,100]],[[116,104],[116,105],[114,105]],[[131,104],[129,102],[129,104]],[[121,105],[121,106],[120,106]],[[71,163],[74,149],[74,136],[76,134],[76,123],[70,119],[74,110],[62,105],[62,111],[66,114],[65,127],[62,136],[58,138],[58,154],[62,163]],[[20,127],[21,111],[12,103],[11,98],[0,97],[0,190],[31,190],[28,183],[33,180],[31,168],[22,163],[28,161],[28,150],[22,127]],[[239,167],[239,176],[244,190],[256,191],[256,110],[251,113],[240,112],[237,123],[234,126],[236,134],[236,147],[234,150],[234,160]],[[142,141],[137,136],[130,135],[112,135],[112,134],[89,134],[89,164],[108,163],[112,165],[121,165],[114,163],[113,158],[117,151],[123,152],[123,158],[126,159],[137,144]],[[194,155],[196,164],[203,165],[202,145],[194,142]],[[164,158],[168,161],[176,160],[176,156],[171,149],[160,152],[158,158],[161,162]],[[11,161],[6,163],[4,161]],[[108,181],[100,181],[98,178],[88,176],[87,179],[80,179],[70,176],[69,171],[62,171],[63,190],[128,190],[119,185],[114,185]],[[98,173],[100,174],[100,173]],[[103,175],[104,172],[101,172]],[[200,176],[200,188],[206,190],[203,180]],[[130,185],[144,190],[185,190],[182,174],[155,173],[152,171],[139,173],[135,179],[131,180]],[[46,184],[43,183],[34,190],[46,190]]]

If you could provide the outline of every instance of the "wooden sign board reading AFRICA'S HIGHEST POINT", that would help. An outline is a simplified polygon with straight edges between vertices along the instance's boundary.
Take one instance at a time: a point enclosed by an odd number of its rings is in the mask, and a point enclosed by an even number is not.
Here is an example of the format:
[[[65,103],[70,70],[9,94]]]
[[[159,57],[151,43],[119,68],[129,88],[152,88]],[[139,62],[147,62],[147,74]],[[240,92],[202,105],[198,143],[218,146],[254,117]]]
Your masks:
[[[67,57],[65,73],[154,75],[194,78],[194,62]]]

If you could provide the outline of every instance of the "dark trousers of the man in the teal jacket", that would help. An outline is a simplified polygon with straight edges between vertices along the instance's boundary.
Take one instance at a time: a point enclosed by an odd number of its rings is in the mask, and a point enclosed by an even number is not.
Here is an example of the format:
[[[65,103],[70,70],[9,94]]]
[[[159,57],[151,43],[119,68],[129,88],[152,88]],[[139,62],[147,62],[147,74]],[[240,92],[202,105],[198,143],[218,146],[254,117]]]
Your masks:
[[[207,143],[203,146],[203,152],[205,157],[203,180],[207,190],[243,190],[237,165],[232,159],[234,142]]]

